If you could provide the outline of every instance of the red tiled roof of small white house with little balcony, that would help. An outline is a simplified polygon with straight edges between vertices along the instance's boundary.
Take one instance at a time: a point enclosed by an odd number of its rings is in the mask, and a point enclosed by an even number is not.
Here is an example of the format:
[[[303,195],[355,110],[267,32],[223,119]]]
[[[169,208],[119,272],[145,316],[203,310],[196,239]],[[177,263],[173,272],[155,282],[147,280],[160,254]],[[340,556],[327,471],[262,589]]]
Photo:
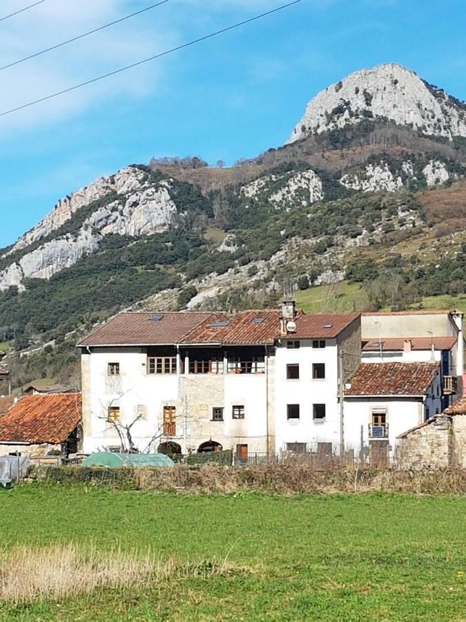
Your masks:
[[[438,371],[437,363],[362,363],[344,395],[424,395]]]

